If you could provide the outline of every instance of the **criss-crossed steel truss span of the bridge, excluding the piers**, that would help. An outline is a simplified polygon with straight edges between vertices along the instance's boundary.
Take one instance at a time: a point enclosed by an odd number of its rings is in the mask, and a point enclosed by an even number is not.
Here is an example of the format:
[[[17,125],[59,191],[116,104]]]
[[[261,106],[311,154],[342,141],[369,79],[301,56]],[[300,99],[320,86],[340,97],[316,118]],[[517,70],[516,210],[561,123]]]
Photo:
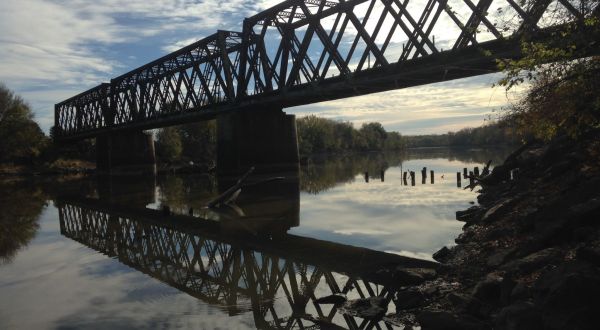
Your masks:
[[[287,0],[246,18],[241,32],[218,31],[111,80],[110,88],[97,87],[108,104],[95,89],[57,104],[57,131],[86,137],[107,128],[155,128],[264,102],[294,106],[455,79],[469,74],[448,70],[472,69],[465,51],[493,65],[503,54],[481,52],[501,50],[490,43],[564,23],[552,15],[557,10],[573,20],[590,14],[575,0],[520,3]],[[429,70],[421,61],[427,58],[445,67]],[[470,75],[493,72],[492,65]],[[405,74],[415,67],[422,73]],[[404,82],[393,78],[402,74]],[[386,75],[395,86],[373,83]]]

